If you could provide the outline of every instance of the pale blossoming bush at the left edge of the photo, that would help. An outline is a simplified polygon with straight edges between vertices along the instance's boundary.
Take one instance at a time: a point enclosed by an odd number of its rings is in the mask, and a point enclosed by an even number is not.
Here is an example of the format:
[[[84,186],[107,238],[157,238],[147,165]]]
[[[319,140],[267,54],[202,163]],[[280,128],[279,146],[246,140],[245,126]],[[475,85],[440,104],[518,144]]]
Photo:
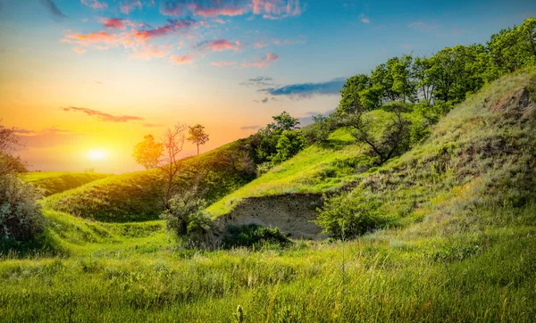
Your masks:
[[[40,189],[14,174],[0,176],[0,240],[29,241],[44,227]]]

